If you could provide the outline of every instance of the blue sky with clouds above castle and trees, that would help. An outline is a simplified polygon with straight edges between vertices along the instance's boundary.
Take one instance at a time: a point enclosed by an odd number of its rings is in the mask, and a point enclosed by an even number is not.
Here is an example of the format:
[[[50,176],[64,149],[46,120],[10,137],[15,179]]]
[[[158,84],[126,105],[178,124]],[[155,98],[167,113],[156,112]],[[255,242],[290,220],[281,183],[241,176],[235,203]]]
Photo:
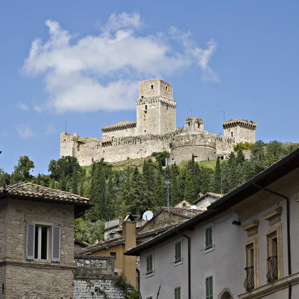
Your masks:
[[[139,82],[171,82],[176,126],[299,142],[299,1],[0,0],[0,168],[47,174],[60,133],[136,120]]]

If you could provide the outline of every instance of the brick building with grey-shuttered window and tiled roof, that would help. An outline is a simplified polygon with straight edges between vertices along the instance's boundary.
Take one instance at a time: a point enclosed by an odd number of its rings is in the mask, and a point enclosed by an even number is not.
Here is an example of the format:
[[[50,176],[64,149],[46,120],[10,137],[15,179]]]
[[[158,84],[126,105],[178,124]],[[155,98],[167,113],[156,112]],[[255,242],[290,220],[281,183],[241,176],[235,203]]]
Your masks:
[[[0,299],[72,299],[74,218],[89,199],[16,183],[0,188]]]

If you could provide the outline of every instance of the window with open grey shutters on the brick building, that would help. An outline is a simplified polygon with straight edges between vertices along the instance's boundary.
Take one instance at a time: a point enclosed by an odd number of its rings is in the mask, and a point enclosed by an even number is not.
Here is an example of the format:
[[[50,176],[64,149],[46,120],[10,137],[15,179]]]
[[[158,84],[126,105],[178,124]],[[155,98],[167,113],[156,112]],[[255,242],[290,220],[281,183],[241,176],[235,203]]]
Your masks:
[[[60,226],[27,224],[26,259],[60,262]]]

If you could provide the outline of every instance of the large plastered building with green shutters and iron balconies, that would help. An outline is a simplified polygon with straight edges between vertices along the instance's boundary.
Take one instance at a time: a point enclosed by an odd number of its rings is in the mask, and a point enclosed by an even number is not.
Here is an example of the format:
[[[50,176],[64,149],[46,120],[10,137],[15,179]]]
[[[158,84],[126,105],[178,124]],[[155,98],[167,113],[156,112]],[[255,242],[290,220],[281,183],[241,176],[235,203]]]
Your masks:
[[[130,249],[143,299],[297,299],[299,149]]]

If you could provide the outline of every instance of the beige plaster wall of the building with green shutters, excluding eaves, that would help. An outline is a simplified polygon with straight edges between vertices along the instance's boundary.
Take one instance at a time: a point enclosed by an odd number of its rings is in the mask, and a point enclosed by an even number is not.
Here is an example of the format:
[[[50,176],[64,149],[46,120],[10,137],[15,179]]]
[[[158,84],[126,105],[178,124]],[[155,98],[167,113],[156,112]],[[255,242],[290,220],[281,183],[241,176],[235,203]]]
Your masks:
[[[184,232],[191,238],[191,298],[205,298],[205,277],[213,275],[214,298],[218,299],[221,292],[228,288],[234,298],[239,299],[281,299],[288,298],[288,280],[293,286],[293,297],[297,298],[299,291],[299,169],[280,179],[268,188],[285,194],[290,198],[291,211],[291,259],[292,274],[288,278],[288,252],[287,252],[287,207],[286,200],[259,191],[255,195],[209,219],[208,221],[194,227],[194,231]],[[281,214],[272,222],[266,220],[269,214],[278,207]],[[241,225],[232,225],[233,220],[240,220]],[[245,231],[242,227],[252,221],[258,221],[256,232]],[[204,250],[205,228],[213,226],[213,248],[211,251]],[[281,230],[282,236],[282,268],[281,278],[271,284],[267,283],[267,235],[274,230]],[[181,238],[181,239],[180,239]],[[174,244],[181,240],[182,263],[174,267]],[[246,273],[246,244],[251,242],[257,244],[255,275],[257,283],[255,289],[246,292],[243,286]],[[154,255],[154,275],[146,275],[146,257]],[[141,261],[141,292],[142,297],[153,294],[156,297],[157,290],[161,285],[161,298],[167,298],[172,294],[174,286],[181,284],[182,299],[187,299],[187,240],[181,236],[163,242],[152,249],[142,252]],[[287,282],[287,283],[286,283]],[[277,285],[282,290],[275,293]],[[279,289],[279,288],[278,288]],[[274,292],[274,293],[273,293]],[[256,295],[255,295],[256,294]]]

